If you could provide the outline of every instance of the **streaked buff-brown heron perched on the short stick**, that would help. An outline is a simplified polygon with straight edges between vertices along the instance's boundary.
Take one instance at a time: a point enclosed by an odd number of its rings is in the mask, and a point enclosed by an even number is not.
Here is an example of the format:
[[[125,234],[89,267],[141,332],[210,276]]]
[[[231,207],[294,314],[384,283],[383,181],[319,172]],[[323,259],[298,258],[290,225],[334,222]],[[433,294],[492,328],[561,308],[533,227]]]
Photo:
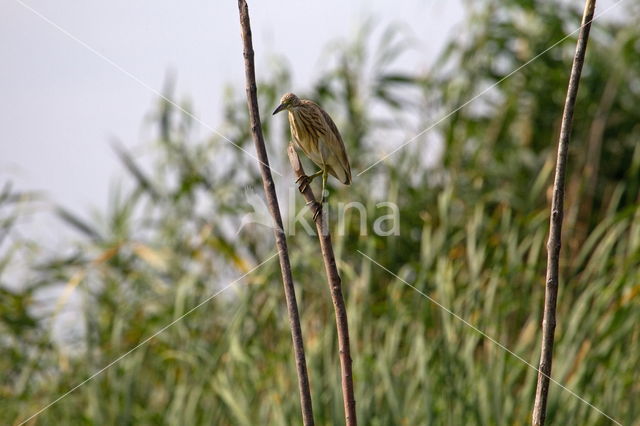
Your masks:
[[[287,110],[289,128],[295,145],[320,167],[309,176],[300,176],[296,183],[300,192],[318,176],[322,176],[322,203],[326,201],[325,187],[328,175],[334,176],[345,185],[351,184],[351,166],[338,127],[320,105],[308,99],[300,99],[293,93],[286,93],[273,115]],[[321,206],[314,214],[314,220]]]

